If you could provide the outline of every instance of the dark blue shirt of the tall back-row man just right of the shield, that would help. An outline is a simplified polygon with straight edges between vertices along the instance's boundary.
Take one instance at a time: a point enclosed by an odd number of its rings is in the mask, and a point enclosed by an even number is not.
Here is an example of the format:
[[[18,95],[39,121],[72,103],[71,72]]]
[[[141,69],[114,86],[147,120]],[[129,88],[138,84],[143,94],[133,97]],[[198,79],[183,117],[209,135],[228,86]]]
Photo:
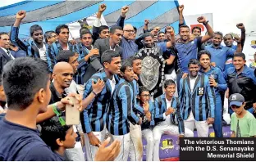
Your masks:
[[[178,51],[178,67],[182,73],[189,73],[189,62],[190,59],[197,59],[198,47],[201,47],[202,37],[194,38],[189,43],[176,43],[175,47]]]

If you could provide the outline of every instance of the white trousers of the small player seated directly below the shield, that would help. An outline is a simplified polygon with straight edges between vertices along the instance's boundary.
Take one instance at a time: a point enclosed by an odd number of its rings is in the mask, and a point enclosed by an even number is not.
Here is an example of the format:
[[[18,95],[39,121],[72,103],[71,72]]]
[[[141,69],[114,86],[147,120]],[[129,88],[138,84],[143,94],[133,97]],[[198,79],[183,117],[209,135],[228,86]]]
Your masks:
[[[153,161],[153,132],[151,128],[142,130],[142,137],[147,141],[146,160]]]

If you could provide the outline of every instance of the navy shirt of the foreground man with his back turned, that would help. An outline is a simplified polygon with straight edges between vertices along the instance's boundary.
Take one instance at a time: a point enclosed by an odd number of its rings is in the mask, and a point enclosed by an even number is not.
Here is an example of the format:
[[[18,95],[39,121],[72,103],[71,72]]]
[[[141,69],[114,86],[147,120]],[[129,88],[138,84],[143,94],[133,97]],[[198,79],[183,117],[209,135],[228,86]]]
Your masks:
[[[63,161],[39,137],[36,129],[0,121],[0,161]]]

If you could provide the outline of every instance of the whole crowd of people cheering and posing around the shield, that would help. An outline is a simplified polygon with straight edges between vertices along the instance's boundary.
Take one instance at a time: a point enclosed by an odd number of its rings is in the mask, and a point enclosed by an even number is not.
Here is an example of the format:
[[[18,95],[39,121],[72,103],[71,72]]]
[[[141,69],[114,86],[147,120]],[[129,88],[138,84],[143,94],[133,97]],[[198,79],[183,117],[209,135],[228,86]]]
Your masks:
[[[200,27],[185,25],[181,5],[178,35],[144,20],[137,36],[125,25],[127,6],[116,25],[101,25],[106,7],[99,5],[92,33],[81,26],[77,40],[67,25],[45,32],[45,41],[32,25],[31,38],[21,40],[25,11],[10,34],[0,33],[0,160],[141,161],[144,138],[146,160],[159,161],[162,134],[208,137],[213,124],[222,137],[225,97],[231,137],[256,137],[256,77],[245,65],[243,24],[236,25],[240,38],[223,36],[201,16],[201,36]],[[80,124],[66,125],[66,105],[80,110]]]

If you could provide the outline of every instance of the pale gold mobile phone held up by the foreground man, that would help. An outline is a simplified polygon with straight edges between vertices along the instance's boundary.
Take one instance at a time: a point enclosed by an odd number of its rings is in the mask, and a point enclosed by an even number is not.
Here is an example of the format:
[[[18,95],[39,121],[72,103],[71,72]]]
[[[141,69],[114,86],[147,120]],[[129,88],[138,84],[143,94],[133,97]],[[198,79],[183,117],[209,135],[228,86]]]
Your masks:
[[[80,111],[77,109],[77,100],[75,97],[69,97],[72,105],[66,104],[66,125],[78,125],[80,121]]]

